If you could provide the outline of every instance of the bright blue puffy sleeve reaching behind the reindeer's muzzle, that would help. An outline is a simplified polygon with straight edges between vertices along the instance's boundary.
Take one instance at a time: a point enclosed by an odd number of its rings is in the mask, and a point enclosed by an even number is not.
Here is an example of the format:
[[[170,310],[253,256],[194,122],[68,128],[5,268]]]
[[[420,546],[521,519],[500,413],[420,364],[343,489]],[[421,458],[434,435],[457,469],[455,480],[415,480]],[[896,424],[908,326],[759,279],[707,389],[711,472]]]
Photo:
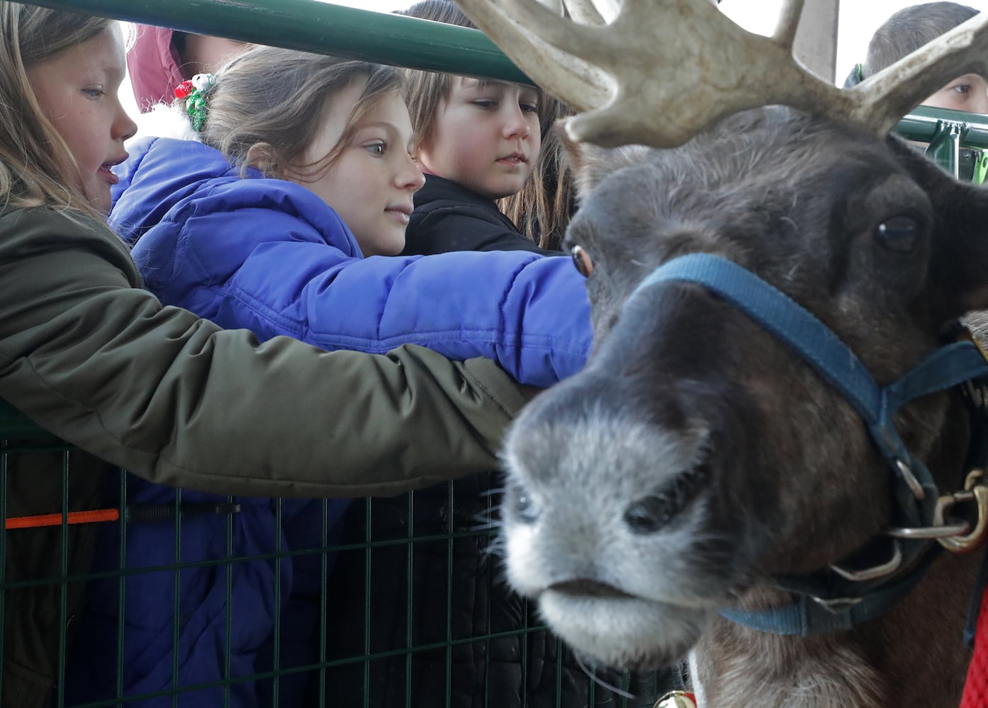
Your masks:
[[[522,384],[579,371],[591,344],[584,279],[569,259],[457,252],[362,258],[342,221],[290,205],[198,200],[144,234],[134,258],[169,304],[261,339],[287,334],[328,350],[420,344],[451,359],[495,360]],[[266,196],[265,200],[270,200]],[[315,225],[317,221],[318,227]]]

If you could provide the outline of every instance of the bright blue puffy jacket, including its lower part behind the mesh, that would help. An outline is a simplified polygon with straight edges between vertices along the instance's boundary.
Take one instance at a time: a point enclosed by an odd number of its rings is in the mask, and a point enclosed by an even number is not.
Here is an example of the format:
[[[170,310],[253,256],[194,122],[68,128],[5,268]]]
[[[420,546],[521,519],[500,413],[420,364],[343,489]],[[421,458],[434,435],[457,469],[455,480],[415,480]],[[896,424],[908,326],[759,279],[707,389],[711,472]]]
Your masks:
[[[451,359],[486,356],[540,387],[579,370],[589,352],[589,304],[568,258],[504,251],[365,259],[320,198],[254,170],[241,178],[221,153],[194,141],[142,141],[118,174],[111,225],[133,245],[146,287],[166,305],[251,329],[262,340],[287,334],[324,349],[367,352],[415,343]],[[132,477],[126,495],[135,508],[175,503],[174,489]],[[280,665],[313,661],[321,555],[225,560],[332,544],[346,500],[237,497],[238,510],[221,513],[208,505],[226,501],[183,491],[181,561],[206,563],[178,578],[170,570],[126,577],[121,658],[121,582],[91,583],[82,631],[92,641],[69,667],[71,702],[115,695],[118,663],[125,695],[215,681],[226,675],[226,655],[231,677],[270,670],[276,624]],[[174,564],[175,538],[173,520],[128,524],[127,568]],[[96,570],[113,570],[120,555],[119,533],[108,525]],[[303,673],[282,678],[280,702],[297,705],[303,680]],[[228,690],[233,708],[271,704],[270,681],[233,681]],[[179,705],[221,705],[223,691],[182,693]],[[162,696],[139,705],[173,704]]]

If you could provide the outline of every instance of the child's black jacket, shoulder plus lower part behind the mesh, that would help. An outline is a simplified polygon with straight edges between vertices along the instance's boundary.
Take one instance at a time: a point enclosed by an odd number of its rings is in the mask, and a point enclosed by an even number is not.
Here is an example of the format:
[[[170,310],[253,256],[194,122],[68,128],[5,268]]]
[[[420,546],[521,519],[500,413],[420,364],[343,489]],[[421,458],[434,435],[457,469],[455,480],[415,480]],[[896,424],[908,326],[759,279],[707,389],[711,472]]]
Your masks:
[[[406,254],[517,249],[562,255],[535,246],[491,200],[426,176],[415,195]],[[351,506],[343,544],[353,550],[339,554],[326,602],[326,658],[346,663],[325,672],[327,705],[621,704],[614,692],[593,684],[555,636],[531,629],[542,624],[535,603],[509,588],[489,530],[496,527],[502,485],[500,473],[491,472]],[[368,541],[370,554],[361,547]],[[365,674],[363,661],[347,661],[365,654],[385,656],[368,662]],[[598,675],[621,684],[615,671]],[[678,669],[671,668],[635,675],[625,689],[651,696],[651,703],[680,685]],[[309,704],[315,705],[320,691],[311,687]]]

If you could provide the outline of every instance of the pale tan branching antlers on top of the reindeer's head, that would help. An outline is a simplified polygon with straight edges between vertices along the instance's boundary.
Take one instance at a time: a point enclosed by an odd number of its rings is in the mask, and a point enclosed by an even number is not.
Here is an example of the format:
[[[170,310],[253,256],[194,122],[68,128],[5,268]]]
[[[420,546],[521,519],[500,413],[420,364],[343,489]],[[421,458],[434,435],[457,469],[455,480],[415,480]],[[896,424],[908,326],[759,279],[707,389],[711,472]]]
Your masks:
[[[576,141],[679,145],[721,118],[784,104],[888,133],[950,79],[985,73],[988,14],[955,28],[851,90],[792,56],[802,0],[786,0],[771,38],[735,25],[710,0],[457,0],[473,23],[546,91],[579,112]],[[553,0],[558,5],[560,0]]]

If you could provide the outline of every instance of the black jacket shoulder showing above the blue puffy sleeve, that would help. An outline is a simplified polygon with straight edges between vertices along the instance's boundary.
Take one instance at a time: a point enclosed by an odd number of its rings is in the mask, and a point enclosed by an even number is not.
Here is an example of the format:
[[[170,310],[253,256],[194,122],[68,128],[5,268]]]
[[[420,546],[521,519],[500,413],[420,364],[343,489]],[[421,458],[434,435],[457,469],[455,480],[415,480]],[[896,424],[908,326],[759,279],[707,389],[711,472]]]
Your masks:
[[[415,212],[405,231],[402,255],[448,251],[542,250],[522,235],[489,199],[436,175],[426,175],[426,184],[415,193]]]

